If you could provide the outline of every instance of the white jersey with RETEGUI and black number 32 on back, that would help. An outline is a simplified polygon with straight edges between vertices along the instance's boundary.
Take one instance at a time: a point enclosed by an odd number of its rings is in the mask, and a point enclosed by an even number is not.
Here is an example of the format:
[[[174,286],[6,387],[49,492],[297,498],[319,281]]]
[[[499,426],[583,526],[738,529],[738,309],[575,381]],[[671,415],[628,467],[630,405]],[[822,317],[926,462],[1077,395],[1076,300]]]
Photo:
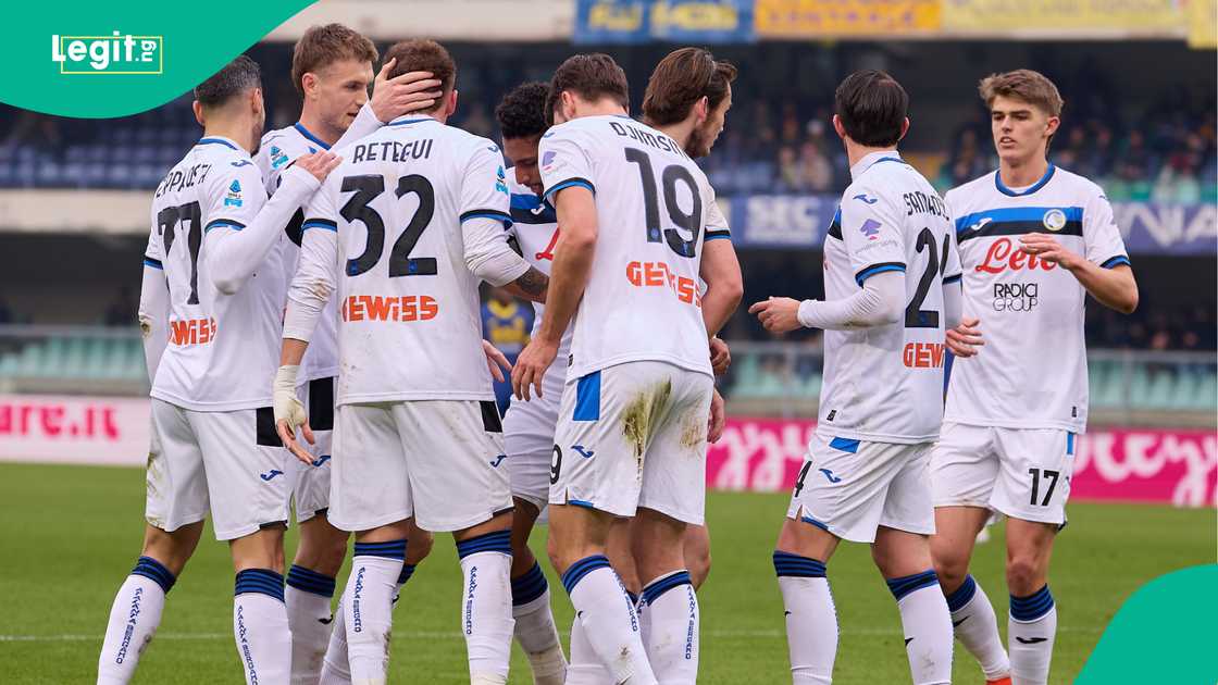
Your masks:
[[[337,403],[492,400],[469,263],[508,239],[499,147],[423,116],[342,156],[304,212],[292,283],[294,299],[314,277],[337,285]]]

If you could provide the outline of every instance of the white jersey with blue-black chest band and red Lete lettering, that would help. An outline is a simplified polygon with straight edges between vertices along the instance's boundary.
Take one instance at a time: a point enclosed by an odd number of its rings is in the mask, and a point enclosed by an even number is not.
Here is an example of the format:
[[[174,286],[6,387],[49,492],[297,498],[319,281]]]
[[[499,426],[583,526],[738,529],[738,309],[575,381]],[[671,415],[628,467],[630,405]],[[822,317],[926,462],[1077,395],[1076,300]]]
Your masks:
[[[955,360],[945,418],[973,425],[1086,428],[1086,290],[1068,271],[1019,251],[1028,233],[1105,268],[1129,264],[1104,190],[1052,165],[1016,191],[988,173],[946,195],[965,277],[965,316],[985,346]]]

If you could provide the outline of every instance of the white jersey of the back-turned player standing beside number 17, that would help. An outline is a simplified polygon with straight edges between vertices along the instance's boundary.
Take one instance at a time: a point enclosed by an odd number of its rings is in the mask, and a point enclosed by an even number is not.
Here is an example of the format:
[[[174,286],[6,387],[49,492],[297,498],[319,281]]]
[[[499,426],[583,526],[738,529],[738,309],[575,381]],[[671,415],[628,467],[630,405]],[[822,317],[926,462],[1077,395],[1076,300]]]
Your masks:
[[[853,183],[825,240],[825,300],[842,300],[884,272],[905,273],[896,323],[825,332],[816,431],[826,439],[914,444],[943,423],[943,286],[960,279],[948,208],[895,151],[850,168]]]

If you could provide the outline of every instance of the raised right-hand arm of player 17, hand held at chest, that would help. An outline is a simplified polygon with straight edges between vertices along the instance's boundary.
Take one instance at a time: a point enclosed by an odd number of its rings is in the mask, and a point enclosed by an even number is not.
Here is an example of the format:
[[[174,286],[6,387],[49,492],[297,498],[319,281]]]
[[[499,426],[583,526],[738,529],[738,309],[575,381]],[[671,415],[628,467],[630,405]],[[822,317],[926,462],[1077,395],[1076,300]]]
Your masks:
[[[1095,197],[1083,210],[1085,255],[1067,250],[1056,238],[1041,233],[1024,235],[1021,249],[1074,274],[1105,307],[1124,314],[1133,313],[1138,308],[1138,282],[1117,229],[1112,205],[1096,190]]]

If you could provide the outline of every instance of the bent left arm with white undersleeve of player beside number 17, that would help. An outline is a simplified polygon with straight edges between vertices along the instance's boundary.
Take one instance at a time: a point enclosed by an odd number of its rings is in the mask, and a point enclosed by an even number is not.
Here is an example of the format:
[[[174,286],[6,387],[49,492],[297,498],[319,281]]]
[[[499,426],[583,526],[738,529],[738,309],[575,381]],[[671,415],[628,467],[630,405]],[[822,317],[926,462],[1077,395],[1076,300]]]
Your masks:
[[[862,190],[862,193],[856,193]],[[860,197],[877,197],[866,204]],[[851,330],[900,321],[905,306],[905,245],[900,212],[877,189],[851,186],[842,204],[842,241],[850,257],[859,290],[849,297],[821,301],[771,297],[749,313],[771,333],[799,327]]]

